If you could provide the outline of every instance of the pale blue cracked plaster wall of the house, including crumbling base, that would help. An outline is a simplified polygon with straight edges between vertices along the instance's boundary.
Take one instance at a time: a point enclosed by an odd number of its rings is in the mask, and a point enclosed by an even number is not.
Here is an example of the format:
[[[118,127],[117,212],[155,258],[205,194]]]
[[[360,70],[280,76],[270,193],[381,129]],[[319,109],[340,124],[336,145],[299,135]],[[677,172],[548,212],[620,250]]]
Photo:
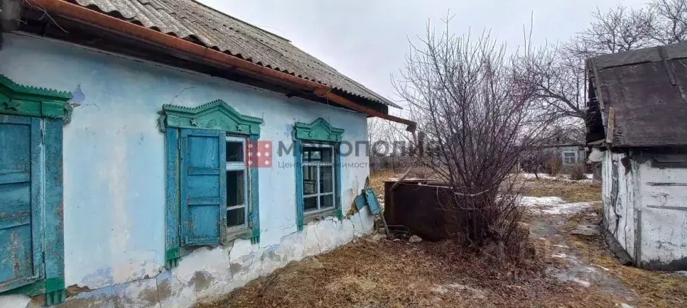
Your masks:
[[[328,219],[297,232],[293,156],[274,153],[273,167],[259,171],[260,244],[236,240],[200,248],[178,268],[163,270],[162,104],[223,99],[264,119],[260,140],[286,145],[293,123],[317,117],[344,128],[344,141],[365,141],[365,115],[23,34],[5,34],[0,62],[0,74],[15,82],[69,91],[80,86],[85,94],[64,129],[65,283],[93,291],[64,307],[188,307],[372,230],[363,209],[343,222]],[[342,158],[348,164],[341,174],[343,213],[369,174],[365,150]],[[10,300],[12,306],[2,307],[25,307],[21,296],[0,297],[0,303]]]

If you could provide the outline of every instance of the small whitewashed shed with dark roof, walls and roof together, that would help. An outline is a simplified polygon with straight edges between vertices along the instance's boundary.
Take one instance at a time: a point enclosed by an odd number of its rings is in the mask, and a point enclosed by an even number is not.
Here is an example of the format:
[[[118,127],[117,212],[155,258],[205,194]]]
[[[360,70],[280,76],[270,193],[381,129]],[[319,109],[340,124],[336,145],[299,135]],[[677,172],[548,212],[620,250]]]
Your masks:
[[[590,159],[603,227],[622,259],[687,270],[687,44],[587,60]]]

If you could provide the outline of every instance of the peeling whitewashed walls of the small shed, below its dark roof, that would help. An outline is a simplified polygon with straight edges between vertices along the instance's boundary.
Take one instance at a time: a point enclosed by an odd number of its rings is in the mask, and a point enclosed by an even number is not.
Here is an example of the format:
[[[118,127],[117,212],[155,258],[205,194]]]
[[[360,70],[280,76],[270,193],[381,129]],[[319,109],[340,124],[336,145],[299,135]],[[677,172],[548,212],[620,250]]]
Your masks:
[[[657,159],[673,165],[657,165]],[[679,165],[686,161],[684,154],[628,156],[605,152],[605,224],[620,246],[644,268],[687,269],[687,167]],[[611,198],[613,164],[618,166],[615,204]]]

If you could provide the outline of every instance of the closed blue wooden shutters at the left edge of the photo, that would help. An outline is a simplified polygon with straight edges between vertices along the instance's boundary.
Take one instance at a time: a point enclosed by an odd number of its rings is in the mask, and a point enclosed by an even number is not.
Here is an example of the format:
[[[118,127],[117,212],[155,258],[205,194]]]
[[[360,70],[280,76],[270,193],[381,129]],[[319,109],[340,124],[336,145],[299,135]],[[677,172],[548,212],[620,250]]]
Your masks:
[[[41,278],[41,122],[0,115],[0,292]]]

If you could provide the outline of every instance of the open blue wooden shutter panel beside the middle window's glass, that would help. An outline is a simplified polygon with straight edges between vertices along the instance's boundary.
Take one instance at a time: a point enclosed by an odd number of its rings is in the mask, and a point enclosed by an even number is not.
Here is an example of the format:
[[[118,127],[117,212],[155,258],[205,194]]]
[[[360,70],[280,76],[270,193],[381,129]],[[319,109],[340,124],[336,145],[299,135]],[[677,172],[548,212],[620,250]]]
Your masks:
[[[225,133],[181,132],[181,238],[186,246],[218,245],[226,228]]]

